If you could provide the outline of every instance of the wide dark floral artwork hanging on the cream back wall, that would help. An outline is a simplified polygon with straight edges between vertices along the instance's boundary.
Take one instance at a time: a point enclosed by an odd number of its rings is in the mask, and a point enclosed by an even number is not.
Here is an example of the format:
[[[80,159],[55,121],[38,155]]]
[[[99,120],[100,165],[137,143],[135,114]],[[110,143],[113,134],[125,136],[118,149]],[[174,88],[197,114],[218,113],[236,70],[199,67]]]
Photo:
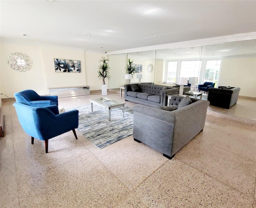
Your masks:
[[[81,61],[54,58],[55,72],[81,72]]]

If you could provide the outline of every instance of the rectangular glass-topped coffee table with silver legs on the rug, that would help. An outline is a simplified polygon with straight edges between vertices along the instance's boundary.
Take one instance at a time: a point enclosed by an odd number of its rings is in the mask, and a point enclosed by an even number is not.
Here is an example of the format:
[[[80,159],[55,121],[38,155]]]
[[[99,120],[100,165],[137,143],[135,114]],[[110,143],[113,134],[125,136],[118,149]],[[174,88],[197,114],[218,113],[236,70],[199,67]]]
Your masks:
[[[91,102],[92,112],[93,104],[99,104],[100,106],[108,109],[108,120],[110,121],[110,110],[113,108],[122,108],[123,117],[124,117],[124,102],[119,102],[111,98],[101,97],[96,99],[89,99]]]

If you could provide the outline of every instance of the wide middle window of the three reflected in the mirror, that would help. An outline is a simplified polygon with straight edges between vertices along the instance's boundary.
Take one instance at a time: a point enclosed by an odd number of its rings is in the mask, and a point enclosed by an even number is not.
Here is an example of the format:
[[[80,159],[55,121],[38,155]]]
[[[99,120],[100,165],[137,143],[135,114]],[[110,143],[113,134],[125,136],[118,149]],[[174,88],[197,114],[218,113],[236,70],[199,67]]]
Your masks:
[[[180,77],[198,77],[202,61],[182,61]]]

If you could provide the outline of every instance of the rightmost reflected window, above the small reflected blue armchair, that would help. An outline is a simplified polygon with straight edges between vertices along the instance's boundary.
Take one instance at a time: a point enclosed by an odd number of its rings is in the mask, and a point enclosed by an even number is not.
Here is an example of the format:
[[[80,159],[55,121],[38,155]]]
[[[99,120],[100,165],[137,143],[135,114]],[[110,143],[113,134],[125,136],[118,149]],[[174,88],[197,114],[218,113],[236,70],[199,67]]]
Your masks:
[[[215,86],[217,85],[220,73],[220,64],[221,60],[208,60],[206,62],[204,82],[215,82]]]

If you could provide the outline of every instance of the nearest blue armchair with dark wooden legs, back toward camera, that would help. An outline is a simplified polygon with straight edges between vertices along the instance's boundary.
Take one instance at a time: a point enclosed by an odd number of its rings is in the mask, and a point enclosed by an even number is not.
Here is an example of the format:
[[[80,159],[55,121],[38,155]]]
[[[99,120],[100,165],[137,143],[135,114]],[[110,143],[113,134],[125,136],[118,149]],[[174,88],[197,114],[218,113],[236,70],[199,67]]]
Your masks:
[[[34,144],[34,138],[44,140],[46,153],[48,140],[55,136],[72,130],[77,139],[75,128],[78,127],[78,110],[59,114],[56,105],[33,107],[20,102],[13,105],[22,128],[31,136],[31,143]]]

